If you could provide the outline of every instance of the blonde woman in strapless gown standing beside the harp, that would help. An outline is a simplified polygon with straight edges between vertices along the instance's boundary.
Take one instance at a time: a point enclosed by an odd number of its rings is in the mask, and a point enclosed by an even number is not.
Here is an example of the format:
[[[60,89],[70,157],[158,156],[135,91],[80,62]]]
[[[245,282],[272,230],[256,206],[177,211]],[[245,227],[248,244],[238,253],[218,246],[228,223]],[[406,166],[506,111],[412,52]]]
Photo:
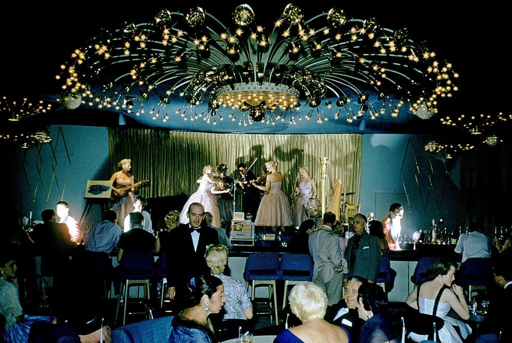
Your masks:
[[[293,191],[293,225],[300,226],[301,223],[308,219],[307,208],[309,207],[310,199],[316,198],[316,183],[315,180],[309,176],[309,169],[306,166],[298,168],[301,177],[298,178]],[[313,200],[314,201],[314,200]]]

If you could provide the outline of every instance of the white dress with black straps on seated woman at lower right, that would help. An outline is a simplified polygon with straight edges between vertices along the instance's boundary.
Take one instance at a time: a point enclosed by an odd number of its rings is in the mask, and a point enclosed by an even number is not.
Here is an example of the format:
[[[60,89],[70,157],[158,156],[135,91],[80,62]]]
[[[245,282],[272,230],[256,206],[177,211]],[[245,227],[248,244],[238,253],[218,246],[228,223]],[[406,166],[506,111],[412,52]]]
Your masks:
[[[418,298],[418,305],[420,313],[428,313],[431,314],[434,310],[435,301],[432,299]],[[463,343],[459,334],[453,327],[453,325],[457,325],[460,329],[460,333],[462,337],[465,339],[467,335],[471,333],[471,327],[466,323],[459,321],[458,319],[454,319],[452,317],[447,316],[446,314],[450,311],[452,307],[449,303],[439,303],[437,305],[437,316],[444,319],[443,327],[438,330],[439,340],[441,343]],[[421,342],[422,340],[427,340],[428,335],[418,335],[413,332],[409,334],[409,338],[414,340],[415,342]]]

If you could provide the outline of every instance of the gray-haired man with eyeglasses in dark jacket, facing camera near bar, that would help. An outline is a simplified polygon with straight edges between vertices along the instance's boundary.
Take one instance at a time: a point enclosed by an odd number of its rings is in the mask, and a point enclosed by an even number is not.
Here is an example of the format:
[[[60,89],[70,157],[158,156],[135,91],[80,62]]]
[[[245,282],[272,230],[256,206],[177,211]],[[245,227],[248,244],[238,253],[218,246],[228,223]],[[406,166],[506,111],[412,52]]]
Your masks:
[[[380,242],[378,237],[366,232],[368,219],[364,214],[354,216],[354,236],[350,237],[345,249],[349,272],[345,274],[344,285],[353,276],[360,276],[374,283],[380,263]]]

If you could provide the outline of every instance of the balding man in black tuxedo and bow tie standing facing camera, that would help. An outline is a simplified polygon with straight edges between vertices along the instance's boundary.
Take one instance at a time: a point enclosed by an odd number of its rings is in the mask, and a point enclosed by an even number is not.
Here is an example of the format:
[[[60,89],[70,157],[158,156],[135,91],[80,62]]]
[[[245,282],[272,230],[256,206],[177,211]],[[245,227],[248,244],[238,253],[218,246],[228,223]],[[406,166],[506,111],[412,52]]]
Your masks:
[[[167,296],[180,297],[182,287],[191,277],[209,275],[204,253],[210,244],[219,244],[219,234],[215,228],[206,225],[204,206],[199,202],[189,205],[187,224],[180,224],[169,231],[167,249]]]

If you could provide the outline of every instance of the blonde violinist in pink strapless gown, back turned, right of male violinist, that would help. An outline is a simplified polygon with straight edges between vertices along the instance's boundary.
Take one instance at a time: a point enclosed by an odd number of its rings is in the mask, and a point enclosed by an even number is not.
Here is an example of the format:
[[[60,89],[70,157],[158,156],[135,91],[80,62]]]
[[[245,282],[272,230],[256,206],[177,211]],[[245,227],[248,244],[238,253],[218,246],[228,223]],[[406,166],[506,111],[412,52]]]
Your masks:
[[[267,171],[271,172],[270,175],[267,175],[265,186],[257,185],[255,180],[251,181],[254,187],[266,193],[261,199],[254,225],[290,226],[290,202],[281,190],[283,175],[277,171],[278,164],[276,162],[269,161],[265,163],[265,166],[267,167]]]

